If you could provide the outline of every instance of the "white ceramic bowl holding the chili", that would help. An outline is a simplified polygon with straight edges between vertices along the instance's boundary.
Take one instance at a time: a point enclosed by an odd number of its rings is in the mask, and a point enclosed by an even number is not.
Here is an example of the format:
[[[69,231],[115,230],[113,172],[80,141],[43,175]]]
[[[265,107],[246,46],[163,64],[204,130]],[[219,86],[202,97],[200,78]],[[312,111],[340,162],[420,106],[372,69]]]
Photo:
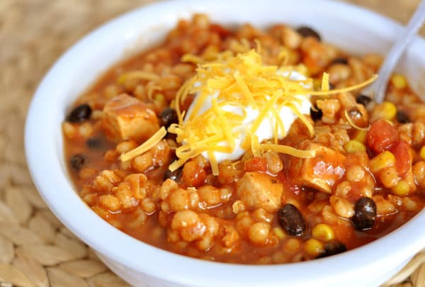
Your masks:
[[[127,13],[71,47],[42,80],[26,122],[26,156],[33,180],[53,213],[135,286],[377,286],[425,247],[425,213],[390,235],[325,259],[269,266],[202,261],[157,249],[125,235],[86,206],[67,175],[61,124],[71,103],[108,67],[164,38],[180,18],[208,13],[225,26],[308,25],[325,41],[356,54],[384,53],[401,26],[334,1],[169,1]],[[425,42],[417,38],[399,66],[419,91]],[[423,87],[422,87],[423,89]],[[424,91],[424,90],[422,90]]]

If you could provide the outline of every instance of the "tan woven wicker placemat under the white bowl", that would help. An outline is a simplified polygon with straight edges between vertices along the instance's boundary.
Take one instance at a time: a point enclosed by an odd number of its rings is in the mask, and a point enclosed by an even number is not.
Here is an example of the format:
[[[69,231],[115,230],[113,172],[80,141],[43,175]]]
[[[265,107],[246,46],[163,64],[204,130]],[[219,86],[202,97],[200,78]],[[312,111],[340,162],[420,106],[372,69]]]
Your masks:
[[[23,127],[33,91],[64,50],[152,0],[0,0],[0,286],[125,286],[33,186]],[[418,0],[351,0],[405,22]],[[422,30],[425,35],[425,29]],[[385,286],[425,286],[425,253]]]

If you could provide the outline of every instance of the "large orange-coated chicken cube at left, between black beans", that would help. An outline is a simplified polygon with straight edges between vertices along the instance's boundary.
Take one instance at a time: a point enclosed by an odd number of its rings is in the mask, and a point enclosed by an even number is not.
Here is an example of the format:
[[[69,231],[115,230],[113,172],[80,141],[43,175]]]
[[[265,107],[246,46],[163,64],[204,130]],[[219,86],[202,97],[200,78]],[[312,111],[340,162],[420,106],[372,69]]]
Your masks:
[[[103,108],[103,130],[115,142],[136,140],[143,142],[158,129],[157,115],[138,99],[121,94]]]

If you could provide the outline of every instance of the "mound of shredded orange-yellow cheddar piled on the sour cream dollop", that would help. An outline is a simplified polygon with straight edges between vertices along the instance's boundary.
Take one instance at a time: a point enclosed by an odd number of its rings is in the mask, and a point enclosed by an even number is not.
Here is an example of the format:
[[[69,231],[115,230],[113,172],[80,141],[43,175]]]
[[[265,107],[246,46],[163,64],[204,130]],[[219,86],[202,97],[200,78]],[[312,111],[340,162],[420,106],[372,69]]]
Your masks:
[[[246,51],[248,47],[244,41],[234,45],[240,45],[236,47],[236,50]],[[259,43],[257,47],[261,49]],[[203,63],[201,57],[183,56],[185,61],[197,62],[198,69],[196,76],[188,80],[190,84],[187,84],[188,82],[183,84],[177,93],[176,106],[179,106],[188,94],[198,94],[189,116],[186,118],[179,116],[179,124],[171,125],[168,129],[169,133],[177,135],[176,141],[181,143],[181,147],[176,149],[179,159],[173,162],[169,169],[178,169],[188,159],[205,152],[210,159],[212,174],[217,175],[218,164],[214,152],[232,153],[240,128],[246,133],[246,139],[241,147],[244,150],[251,150],[254,156],[261,155],[263,147],[260,145],[256,130],[268,116],[273,117],[275,130],[275,145],[270,148],[281,147],[278,145],[278,132],[280,131],[283,135],[286,132],[279,116],[283,106],[294,111],[309,130],[313,131],[312,124],[299,110],[299,104],[302,101],[300,95],[309,96],[311,89],[306,89],[305,86],[310,85],[312,80],[290,79],[290,71],[295,67],[282,69],[283,72],[288,72],[283,76],[281,72],[278,73],[277,66],[263,64],[261,56],[255,50],[248,50],[236,56],[226,51],[217,55],[215,59],[215,61]],[[210,108],[200,113],[207,101],[210,101]],[[243,114],[226,111],[226,106],[241,107]],[[246,107],[259,111],[259,115],[249,129],[242,127],[246,118]],[[181,115],[179,110],[177,113]],[[296,149],[288,148],[280,148],[280,150],[297,154],[293,152]],[[311,155],[306,151],[300,151],[299,154],[304,157]]]

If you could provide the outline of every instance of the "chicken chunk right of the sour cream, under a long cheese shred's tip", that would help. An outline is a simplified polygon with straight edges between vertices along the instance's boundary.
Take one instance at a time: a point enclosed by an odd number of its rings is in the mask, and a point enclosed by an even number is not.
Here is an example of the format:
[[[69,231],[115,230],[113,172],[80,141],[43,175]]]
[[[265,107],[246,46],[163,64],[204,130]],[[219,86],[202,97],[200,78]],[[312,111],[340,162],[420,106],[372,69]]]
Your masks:
[[[332,186],[345,174],[346,156],[317,143],[310,142],[304,149],[314,150],[316,156],[311,159],[291,158],[291,178],[298,184],[331,193]]]

